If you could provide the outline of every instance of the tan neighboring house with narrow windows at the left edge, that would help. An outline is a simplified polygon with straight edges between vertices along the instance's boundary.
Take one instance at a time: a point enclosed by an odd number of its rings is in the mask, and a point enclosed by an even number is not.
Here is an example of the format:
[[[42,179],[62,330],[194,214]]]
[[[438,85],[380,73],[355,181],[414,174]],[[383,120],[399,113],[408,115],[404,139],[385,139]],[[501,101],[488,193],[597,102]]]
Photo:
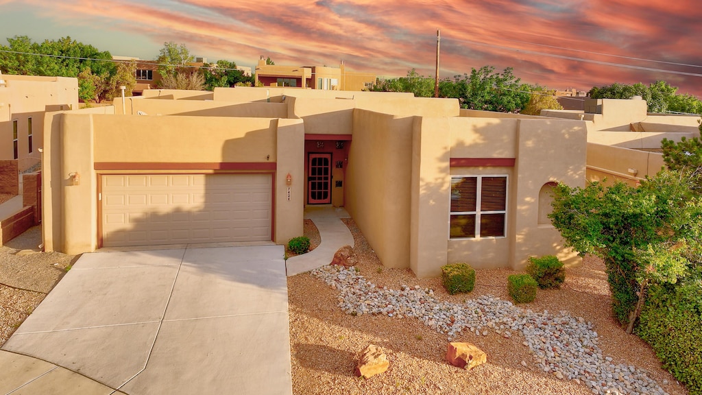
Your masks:
[[[0,75],[0,160],[17,160],[20,172],[37,167],[45,112],[77,108],[75,78]]]

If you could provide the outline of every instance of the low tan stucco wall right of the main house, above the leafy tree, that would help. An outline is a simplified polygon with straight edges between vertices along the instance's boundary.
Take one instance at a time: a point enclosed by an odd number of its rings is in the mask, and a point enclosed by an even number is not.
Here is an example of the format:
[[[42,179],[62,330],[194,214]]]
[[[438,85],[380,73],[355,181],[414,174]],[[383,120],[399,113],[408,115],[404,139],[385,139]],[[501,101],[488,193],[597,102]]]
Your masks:
[[[665,166],[660,153],[595,143],[588,143],[587,153],[588,181],[602,181],[605,185],[623,181],[635,186],[638,181],[654,176]]]

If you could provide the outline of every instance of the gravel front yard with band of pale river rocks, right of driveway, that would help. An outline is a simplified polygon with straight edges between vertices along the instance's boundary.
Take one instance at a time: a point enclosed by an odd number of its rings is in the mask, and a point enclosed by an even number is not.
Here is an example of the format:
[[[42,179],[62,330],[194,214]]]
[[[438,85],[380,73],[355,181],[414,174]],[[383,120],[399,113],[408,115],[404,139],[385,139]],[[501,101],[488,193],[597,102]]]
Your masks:
[[[289,278],[295,394],[593,394],[606,393],[606,387],[611,393],[618,387],[630,394],[687,394],[650,347],[611,318],[598,259],[586,257],[568,268],[560,290],[539,290],[536,301],[514,306],[507,276],[515,271],[477,271],[473,292],[449,295],[439,278],[418,279],[406,269],[381,266],[353,221],[345,222],[355,238],[359,271],[319,271],[329,283],[310,273]],[[395,299],[373,304],[373,291],[376,299]],[[403,297],[424,303],[408,313],[399,306]],[[359,314],[359,302],[369,299],[363,303],[368,311]],[[470,309],[453,310],[467,304]],[[470,371],[449,365],[449,337],[476,344],[488,363]],[[385,349],[390,369],[358,379],[352,375],[357,353],[369,343]]]

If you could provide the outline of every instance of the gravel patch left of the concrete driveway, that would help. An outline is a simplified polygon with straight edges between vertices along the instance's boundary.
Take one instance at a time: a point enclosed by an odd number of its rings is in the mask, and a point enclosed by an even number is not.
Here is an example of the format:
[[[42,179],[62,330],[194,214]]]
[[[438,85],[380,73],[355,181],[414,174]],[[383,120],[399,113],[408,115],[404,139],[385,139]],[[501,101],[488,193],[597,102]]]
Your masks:
[[[39,252],[41,227],[0,246],[0,346],[39,306],[74,257]]]

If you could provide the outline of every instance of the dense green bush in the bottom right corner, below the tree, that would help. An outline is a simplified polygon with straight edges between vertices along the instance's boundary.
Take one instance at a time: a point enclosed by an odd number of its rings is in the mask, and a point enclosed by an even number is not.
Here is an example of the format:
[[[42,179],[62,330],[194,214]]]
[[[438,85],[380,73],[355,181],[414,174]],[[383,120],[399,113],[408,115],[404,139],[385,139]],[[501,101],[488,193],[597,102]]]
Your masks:
[[[649,288],[636,333],[651,344],[663,366],[702,394],[702,280]]]

